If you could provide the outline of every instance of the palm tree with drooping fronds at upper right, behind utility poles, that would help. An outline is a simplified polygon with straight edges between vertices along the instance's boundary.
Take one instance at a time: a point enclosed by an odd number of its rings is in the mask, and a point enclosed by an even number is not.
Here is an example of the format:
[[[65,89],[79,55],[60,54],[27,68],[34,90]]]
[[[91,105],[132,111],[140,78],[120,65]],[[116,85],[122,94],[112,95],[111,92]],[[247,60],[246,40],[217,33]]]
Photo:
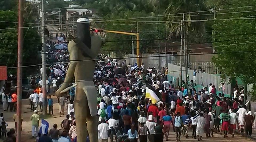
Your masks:
[[[179,33],[180,22],[183,20],[184,13],[184,28],[185,34],[189,32],[203,33],[205,31],[204,22],[191,22],[191,20],[202,20],[206,16],[197,16],[199,14],[208,14],[209,12],[202,12],[208,10],[205,7],[204,0],[189,1],[189,0],[172,0],[170,1],[166,14],[168,14],[167,20],[169,21],[169,29],[171,33]]]

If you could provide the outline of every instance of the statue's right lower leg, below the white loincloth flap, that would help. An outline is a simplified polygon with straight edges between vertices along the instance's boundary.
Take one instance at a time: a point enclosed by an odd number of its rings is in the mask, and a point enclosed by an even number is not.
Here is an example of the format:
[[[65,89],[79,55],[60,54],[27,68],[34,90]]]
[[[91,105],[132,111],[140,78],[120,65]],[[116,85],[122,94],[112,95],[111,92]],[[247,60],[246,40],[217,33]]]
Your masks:
[[[87,117],[87,129],[90,136],[90,141],[98,142],[98,127],[99,124],[97,116]]]

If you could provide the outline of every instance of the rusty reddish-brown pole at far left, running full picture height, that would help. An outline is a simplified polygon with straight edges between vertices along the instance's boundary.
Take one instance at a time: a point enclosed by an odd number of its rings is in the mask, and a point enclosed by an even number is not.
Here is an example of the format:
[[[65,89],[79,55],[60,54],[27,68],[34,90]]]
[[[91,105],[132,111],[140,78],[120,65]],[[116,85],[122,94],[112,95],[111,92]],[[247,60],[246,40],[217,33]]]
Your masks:
[[[21,142],[21,115],[22,115],[22,48],[23,48],[23,2],[24,0],[19,0],[18,8],[18,70],[17,70],[17,139],[16,142]]]

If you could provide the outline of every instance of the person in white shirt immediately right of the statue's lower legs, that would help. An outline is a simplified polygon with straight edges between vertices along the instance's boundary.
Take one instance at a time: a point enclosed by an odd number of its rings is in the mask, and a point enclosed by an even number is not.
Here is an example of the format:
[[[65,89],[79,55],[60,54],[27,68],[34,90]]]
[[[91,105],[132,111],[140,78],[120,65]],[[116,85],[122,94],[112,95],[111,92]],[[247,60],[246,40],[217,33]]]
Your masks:
[[[109,130],[108,124],[105,123],[104,119],[101,119],[101,124],[98,125],[98,133],[99,133],[99,138],[102,139],[102,142],[107,142],[108,141],[108,135],[107,132]]]

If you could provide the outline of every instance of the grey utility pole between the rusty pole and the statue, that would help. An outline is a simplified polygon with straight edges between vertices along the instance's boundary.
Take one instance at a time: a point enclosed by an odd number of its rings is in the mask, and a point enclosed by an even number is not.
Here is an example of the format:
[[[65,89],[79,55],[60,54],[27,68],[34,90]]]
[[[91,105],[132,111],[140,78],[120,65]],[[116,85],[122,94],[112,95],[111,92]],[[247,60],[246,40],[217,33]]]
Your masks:
[[[42,36],[42,67],[43,67],[43,115],[47,114],[47,92],[46,92],[46,47],[45,47],[45,40],[44,40],[44,1],[42,1],[42,6],[41,6],[41,26],[42,26],[42,31],[41,31],[41,36]],[[56,14],[54,14],[55,16]]]

